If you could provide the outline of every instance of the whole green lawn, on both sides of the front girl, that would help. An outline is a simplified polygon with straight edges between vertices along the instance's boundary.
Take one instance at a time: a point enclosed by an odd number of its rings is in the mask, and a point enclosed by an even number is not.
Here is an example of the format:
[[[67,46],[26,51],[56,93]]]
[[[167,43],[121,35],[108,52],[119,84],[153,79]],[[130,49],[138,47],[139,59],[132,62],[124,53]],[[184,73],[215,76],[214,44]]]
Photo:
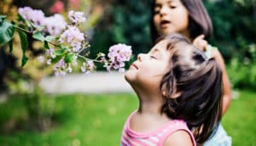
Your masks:
[[[53,97],[50,97],[53,98]],[[130,93],[99,95],[58,95],[54,121],[47,132],[17,130],[0,133],[2,146],[47,145],[119,145],[127,116],[137,108],[137,98]],[[26,121],[26,110],[19,98],[0,104],[0,127],[10,119]],[[256,145],[256,93],[243,91],[234,99],[222,121],[234,146]]]

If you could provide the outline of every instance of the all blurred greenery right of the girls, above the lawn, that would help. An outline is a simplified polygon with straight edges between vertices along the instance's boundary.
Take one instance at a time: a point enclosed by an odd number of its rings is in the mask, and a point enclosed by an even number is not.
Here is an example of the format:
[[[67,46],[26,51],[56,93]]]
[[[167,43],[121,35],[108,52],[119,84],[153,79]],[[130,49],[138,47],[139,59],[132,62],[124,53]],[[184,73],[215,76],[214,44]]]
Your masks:
[[[205,1],[233,88],[256,89],[256,1]]]

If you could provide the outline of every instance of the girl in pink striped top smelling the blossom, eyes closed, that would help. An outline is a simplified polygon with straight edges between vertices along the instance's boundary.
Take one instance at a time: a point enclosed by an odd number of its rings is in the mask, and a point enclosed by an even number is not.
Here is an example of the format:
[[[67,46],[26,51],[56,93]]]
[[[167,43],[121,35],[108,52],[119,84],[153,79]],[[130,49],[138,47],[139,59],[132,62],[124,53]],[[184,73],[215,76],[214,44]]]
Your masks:
[[[125,122],[123,146],[196,145],[218,126],[222,71],[183,36],[161,36],[149,53],[138,55],[125,80],[139,107]]]

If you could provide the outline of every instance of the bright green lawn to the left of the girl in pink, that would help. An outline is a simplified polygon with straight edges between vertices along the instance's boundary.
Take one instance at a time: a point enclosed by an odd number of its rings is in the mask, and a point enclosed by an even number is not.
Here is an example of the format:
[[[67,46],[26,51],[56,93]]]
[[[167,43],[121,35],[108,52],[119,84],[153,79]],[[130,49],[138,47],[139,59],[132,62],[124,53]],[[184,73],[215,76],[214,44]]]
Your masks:
[[[8,118],[14,115],[21,119],[19,121],[26,115],[17,115],[20,109],[21,113],[25,112],[18,99],[0,104],[0,108],[2,124],[7,121],[3,115]],[[18,131],[11,135],[0,134],[0,145],[119,145],[125,120],[136,108],[137,98],[130,93],[60,95],[55,98],[57,126],[44,133]]]

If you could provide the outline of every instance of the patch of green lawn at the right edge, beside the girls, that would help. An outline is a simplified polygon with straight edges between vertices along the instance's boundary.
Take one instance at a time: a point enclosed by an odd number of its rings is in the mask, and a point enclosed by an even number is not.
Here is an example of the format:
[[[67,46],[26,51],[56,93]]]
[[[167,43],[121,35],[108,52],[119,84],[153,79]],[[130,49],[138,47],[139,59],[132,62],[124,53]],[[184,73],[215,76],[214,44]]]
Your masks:
[[[233,146],[256,146],[256,93],[243,91],[233,99],[222,124]]]

